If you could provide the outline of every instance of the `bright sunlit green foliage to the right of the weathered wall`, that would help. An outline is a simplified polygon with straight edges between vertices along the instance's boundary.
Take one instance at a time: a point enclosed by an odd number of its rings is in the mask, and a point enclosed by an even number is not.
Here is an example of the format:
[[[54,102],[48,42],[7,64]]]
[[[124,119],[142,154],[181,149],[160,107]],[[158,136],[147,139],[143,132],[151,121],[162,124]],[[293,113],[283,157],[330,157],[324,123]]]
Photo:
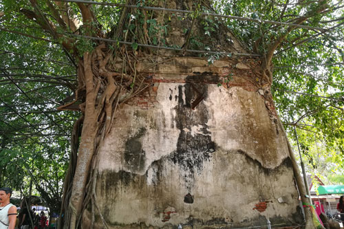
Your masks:
[[[272,59],[272,94],[290,138],[297,122],[301,152],[313,174],[340,173],[344,168],[344,29],[343,3],[336,1],[214,1],[218,13],[252,19],[294,23],[305,15],[304,25],[332,28],[321,31],[297,28],[286,36]],[[327,4],[331,10],[315,13]],[[339,19],[339,20],[338,20]],[[226,21],[248,50],[264,54],[288,27],[251,21]],[[305,40],[308,39],[308,40]],[[297,66],[301,67],[297,67]],[[295,148],[297,151],[297,148]]]

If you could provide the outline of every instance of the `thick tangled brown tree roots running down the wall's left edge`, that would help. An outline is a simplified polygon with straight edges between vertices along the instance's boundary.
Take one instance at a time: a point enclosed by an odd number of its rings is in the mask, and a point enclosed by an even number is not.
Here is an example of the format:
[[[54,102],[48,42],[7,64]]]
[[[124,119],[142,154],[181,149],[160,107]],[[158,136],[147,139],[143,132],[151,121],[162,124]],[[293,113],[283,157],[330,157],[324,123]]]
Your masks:
[[[83,103],[79,105],[79,109],[83,111],[83,118],[76,121],[72,135],[72,152],[74,153],[69,164],[63,195],[63,202],[69,202],[68,207],[66,204],[63,207],[63,210],[66,210],[64,228],[78,228],[83,211],[89,204],[92,208],[91,228],[94,226],[96,210],[103,219],[96,204],[96,173],[94,172],[97,171],[96,154],[100,144],[111,130],[118,106],[147,89],[150,83],[136,72],[138,60],[135,54],[129,54],[123,48],[120,50],[120,56],[122,66],[124,66],[123,72],[116,72],[114,67],[116,59],[105,43],[98,45],[91,53],[85,52],[83,61],[78,63],[79,85],[76,100],[78,94],[85,94],[85,98],[82,98]],[[74,159],[76,159],[75,152],[81,123],[83,123],[83,128],[76,163]],[[71,180],[73,180],[72,186]],[[107,227],[104,219],[103,223]]]

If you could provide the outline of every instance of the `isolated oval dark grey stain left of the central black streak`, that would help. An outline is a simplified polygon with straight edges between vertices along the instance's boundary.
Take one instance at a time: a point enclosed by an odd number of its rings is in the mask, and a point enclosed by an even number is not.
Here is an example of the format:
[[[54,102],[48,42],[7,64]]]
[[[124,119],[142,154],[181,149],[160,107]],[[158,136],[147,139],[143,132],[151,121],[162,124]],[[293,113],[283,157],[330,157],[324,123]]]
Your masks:
[[[138,132],[125,142],[124,160],[125,166],[133,172],[139,172],[144,169],[146,153],[142,149],[142,143],[140,138],[147,132],[142,127],[138,129]]]

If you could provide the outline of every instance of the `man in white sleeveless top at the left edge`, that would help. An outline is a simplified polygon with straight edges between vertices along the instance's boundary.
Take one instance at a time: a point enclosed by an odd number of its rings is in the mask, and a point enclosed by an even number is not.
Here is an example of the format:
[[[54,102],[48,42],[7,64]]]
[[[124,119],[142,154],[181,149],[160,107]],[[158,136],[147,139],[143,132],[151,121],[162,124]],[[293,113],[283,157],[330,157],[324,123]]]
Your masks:
[[[17,207],[10,203],[11,188],[0,188],[0,229],[14,229]]]

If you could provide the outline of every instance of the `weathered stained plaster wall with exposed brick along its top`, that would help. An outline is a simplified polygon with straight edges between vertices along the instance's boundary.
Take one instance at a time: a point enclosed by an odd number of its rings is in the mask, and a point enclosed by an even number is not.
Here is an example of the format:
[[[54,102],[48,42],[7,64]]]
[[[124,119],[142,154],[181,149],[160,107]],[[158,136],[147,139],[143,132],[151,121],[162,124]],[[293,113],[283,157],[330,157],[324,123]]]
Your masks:
[[[279,134],[261,91],[242,80],[239,74],[244,73],[233,67],[238,65],[222,63],[207,72],[208,65],[201,63],[200,69],[197,63],[186,63],[193,67],[179,83],[162,74],[161,67],[161,77],[155,74],[160,83],[118,111],[98,154],[96,193],[108,225],[218,228],[266,225],[266,219],[300,223],[286,138]],[[178,64],[173,66],[180,71]],[[229,88],[219,87],[218,78],[228,74],[228,67],[234,79]],[[203,99],[191,109],[200,95]]]

